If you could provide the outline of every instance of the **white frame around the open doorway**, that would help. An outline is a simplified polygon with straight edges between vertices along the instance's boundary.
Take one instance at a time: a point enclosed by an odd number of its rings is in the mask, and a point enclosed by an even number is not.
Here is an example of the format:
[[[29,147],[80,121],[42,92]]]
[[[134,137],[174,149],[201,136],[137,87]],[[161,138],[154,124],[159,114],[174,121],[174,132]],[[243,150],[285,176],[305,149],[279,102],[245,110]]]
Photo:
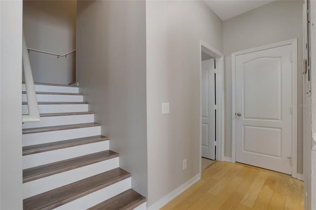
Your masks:
[[[216,59],[216,160],[224,161],[224,54],[199,40],[199,172],[202,157],[202,56],[201,51]]]

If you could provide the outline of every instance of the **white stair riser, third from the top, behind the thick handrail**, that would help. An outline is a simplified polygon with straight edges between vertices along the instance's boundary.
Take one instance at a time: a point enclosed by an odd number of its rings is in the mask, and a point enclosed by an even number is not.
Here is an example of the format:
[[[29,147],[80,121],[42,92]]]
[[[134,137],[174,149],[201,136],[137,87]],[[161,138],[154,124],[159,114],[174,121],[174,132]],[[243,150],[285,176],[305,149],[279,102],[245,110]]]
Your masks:
[[[88,111],[87,104],[39,105],[40,114]],[[28,114],[28,105],[22,105],[22,114]]]

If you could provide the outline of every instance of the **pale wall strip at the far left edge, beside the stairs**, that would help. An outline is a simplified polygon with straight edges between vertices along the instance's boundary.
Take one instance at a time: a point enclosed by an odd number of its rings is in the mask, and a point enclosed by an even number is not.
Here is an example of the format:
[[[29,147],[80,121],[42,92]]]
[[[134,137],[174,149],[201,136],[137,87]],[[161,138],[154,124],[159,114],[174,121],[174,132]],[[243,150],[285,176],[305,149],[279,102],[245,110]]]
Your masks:
[[[0,209],[22,207],[22,0],[0,1]]]

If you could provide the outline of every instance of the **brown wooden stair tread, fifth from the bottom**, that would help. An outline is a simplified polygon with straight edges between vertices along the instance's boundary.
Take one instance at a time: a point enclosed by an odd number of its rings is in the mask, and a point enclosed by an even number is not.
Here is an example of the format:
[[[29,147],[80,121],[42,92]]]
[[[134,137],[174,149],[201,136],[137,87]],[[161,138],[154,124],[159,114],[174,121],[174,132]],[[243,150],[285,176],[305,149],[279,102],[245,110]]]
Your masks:
[[[72,125],[58,125],[58,126],[48,126],[48,127],[40,127],[40,128],[26,128],[22,130],[22,134],[33,134],[33,133],[41,133],[41,132],[49,132],[49,131],[61,131],[68,129],[77,129],[77,128],[87,128],[100,126],[100,123],[80,123],[80,124],[72,124]]]

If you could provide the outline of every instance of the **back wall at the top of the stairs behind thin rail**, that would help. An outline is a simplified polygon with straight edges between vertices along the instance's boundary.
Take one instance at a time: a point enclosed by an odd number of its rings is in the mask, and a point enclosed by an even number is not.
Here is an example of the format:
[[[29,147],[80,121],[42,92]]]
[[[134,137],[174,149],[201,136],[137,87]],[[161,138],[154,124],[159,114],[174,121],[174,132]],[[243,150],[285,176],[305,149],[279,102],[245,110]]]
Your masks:
[[[76,49],[76,0],[23,1],[23,30],[30,48],[65,54]],[[57,58],[29,53],[35,82],[69,84],[76,80],[76,53]]]

